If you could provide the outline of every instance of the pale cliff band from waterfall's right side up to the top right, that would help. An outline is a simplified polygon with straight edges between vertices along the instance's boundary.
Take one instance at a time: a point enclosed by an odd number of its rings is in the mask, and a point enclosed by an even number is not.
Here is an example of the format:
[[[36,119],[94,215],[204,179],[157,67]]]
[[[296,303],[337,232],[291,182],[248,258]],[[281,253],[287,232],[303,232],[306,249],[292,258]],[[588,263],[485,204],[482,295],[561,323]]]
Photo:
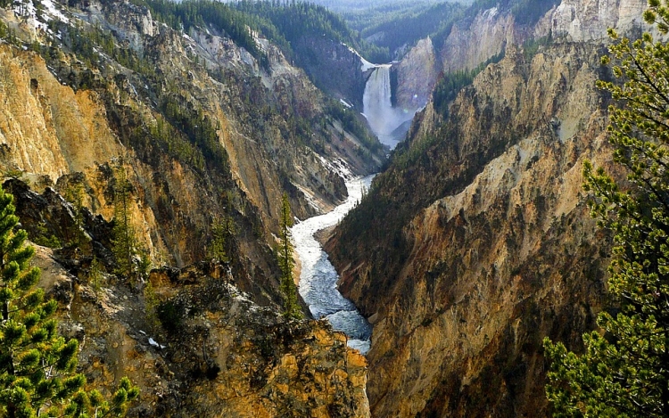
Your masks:
[[[507,45],[532,48],[551,40],[599,40],[606,37],[608,27],[638,28],[645,6],[644,0],[476,1],[466,10],[450,13],[442,29],[430,37],[406,45],[393,67],[393,104],[408,109],[424,106],[442,75],[476,73],[483,64],[499,61]]]

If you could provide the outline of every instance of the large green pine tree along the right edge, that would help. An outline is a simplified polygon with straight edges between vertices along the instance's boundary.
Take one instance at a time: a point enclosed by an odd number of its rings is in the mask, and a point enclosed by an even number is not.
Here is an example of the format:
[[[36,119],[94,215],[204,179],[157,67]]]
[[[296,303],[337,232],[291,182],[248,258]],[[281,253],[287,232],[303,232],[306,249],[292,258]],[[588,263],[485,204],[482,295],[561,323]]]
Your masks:
[[[669,31],[669,0],[650,0],[644,14]],[[617,315],[598,317],[602,332],[583,335],[581,356],[546,339],[551,364],[546,392],[556,416],[669,416],[669,47],[648,33],[609,48],[615,78],[600,81],[618,106],[610,108],[614,159],[629,170],[632,191],[621,192],[603,169],[584,167],[594,193],[593,216],[614,234],[609,291]]]

